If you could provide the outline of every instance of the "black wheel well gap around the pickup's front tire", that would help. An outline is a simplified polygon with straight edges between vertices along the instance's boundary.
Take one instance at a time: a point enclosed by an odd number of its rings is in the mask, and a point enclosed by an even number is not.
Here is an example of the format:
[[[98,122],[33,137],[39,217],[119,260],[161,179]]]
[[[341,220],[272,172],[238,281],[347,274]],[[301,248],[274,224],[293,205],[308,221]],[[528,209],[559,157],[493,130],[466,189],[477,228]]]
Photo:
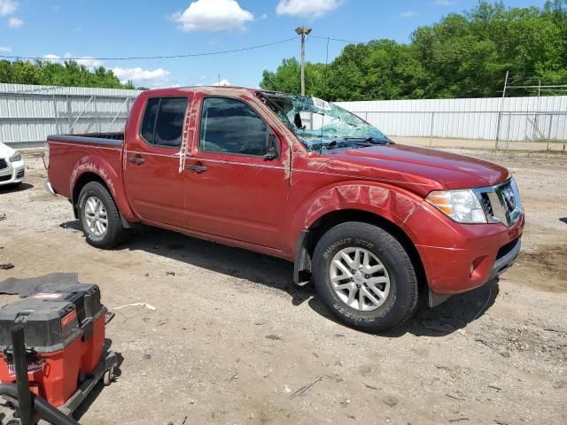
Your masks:
[[[400,226],[393,223],[392,220],[388,220],[377,213],[357,209],[344,209],[325,213],[315,220],[309,228],[301,232],[294,259],[294,283],[304,285],[311,280],[311,264],[315,245],[330,228],[334,228],[338,224],[347,221],[359,221],[384,228],[408,252],[409,258],[416,269],[418,282],[422,285],[427,284],[422,259],[417,251],[416,244],[408,234]]]

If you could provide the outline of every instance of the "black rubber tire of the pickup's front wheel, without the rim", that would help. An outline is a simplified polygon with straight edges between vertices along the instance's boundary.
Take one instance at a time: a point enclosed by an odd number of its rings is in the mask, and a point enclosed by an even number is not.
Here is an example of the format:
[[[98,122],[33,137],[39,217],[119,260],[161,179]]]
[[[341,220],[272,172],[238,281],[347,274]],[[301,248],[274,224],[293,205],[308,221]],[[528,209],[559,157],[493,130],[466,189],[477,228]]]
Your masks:
[[[339,251],[350,247],[374,254],[388,274],[389,293],[376,310],[360,311],[347,305],[333,288],[331,261]],[[395,328],[416,310],[417,277],[408,252],[394,236],[375,225],[350,221],[330,228],[315,246],[313,280],[322,302],[340,321],[366,332]]]

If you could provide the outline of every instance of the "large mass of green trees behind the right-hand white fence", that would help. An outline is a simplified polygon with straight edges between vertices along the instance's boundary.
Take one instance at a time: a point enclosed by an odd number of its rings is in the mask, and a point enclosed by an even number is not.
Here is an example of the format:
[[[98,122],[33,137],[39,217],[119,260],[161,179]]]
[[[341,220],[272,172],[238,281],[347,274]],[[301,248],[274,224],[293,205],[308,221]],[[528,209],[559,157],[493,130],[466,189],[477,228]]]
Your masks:
[[[416,28],[408,44],[349,44],[328,68],[308,63],[306,85],[307,93],[335,101],[497,97],[507,71],[515,85],[567,81],[567,0],[543,8],[481,0]],[[284,59],[276,72],[265,71],[260,87],[299,93],[298,61]]]

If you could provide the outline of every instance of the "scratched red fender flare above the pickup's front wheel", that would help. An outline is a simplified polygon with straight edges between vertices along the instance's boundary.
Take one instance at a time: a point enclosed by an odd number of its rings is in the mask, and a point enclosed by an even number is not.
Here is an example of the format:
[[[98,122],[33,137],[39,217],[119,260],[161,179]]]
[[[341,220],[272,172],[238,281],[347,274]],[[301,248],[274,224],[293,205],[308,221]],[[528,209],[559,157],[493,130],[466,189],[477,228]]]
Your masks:
[[[311,228],[325,214],[339,210],[358,210],[391,221],[413,243],[418,243],[418,237],[406,226],[406,222],[422,201],[423,198],[408,190],[381,182],[332,183],[317,190],[299,205],[292,220],[291,231],[297,241],[302,231]],[[293,246],[292,249],[296,251],[297,247]]]

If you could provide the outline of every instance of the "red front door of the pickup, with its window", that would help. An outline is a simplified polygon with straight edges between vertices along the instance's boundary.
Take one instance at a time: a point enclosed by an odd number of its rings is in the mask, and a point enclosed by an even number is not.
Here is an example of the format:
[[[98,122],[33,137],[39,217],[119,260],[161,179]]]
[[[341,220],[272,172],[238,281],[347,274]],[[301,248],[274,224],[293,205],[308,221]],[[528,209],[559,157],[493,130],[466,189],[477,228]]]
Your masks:
[[[203,111],[200,116],[213,120],[217,112],[207,114]],[[239,151],[239,146],[245,151],[261,151],[261,123],[254,124],[252,120],[246,121],[245,117],[246,129],[242,130],[235,125],[237,121],[243,122],[242,116],[238,115],[235,120],[234,116],[227,116],[225,112],[219,115],[222,116],[219,126],[225,127],[225,133],[221,135],[219,127],[202,128],[201,123],[191,155],[186,159],[187,227],[198,232],[281,249],[289,188],[283,159],[267,161],[259,156],[221,152]],[[228,113],[248,112],[240,110]],[[253,113],[260,115],[257,110]],[[230,123],[229,129],[226,129],[227,123]],[[271,131],[268,125],[266,131]],[[207,134],[214,137],[206,139]],[[210,147],[214,151],[200,151],[199,145],[200,149]],[[282,151],[288,154],[287,150]]]

